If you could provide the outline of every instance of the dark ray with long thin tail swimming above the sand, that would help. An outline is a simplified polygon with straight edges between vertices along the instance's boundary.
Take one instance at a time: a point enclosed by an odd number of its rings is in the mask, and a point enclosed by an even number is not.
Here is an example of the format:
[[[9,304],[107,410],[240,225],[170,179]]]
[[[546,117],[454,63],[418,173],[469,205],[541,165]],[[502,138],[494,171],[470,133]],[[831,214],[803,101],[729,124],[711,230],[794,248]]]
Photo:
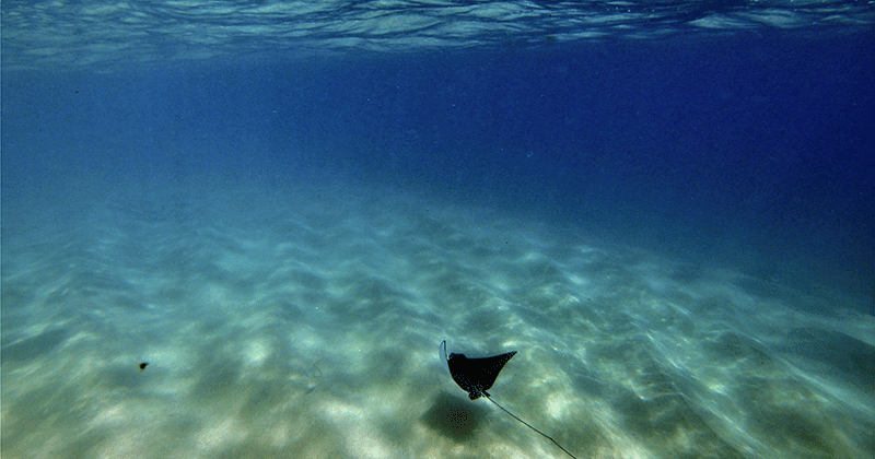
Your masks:
[[[453,377],[453,380],[456,381],[458,387],[468,392],[469,399],[477,400],[480,397],[486,397],[489,399],[489,401],[494,403],[495,407],[513,416],[513,419],[520,421],[521,423],[525,424],[526,427],[539,433],[541,436],[552,442],[553,445],[558,446],[559,449],[563,450],[567,455],[578,459],[574,455],[569,452],[568,449],[562,447],[559,442],[555,440],[551,436],[545,434],[544,432],[533,427],[529,423],[521,420],[516,416],[516,414],[508,411],[508,409],[492,400],[492,396],[487,392],[487,389],[490,389],[492,385],[495,384],[495,378],[499,377],[499,372],[501,372],[501,368],[504,368],[504,364],[506,364],[508,361],[510,361],[511,357],[516,354],[516,351],[493,355],[491,357],[469,358],[466,357],[465,354],[456,353],[451,353],[447,357],[446,340],[441,342],[441,348],[444,351],[446,366],[450,367],[450,376]]]

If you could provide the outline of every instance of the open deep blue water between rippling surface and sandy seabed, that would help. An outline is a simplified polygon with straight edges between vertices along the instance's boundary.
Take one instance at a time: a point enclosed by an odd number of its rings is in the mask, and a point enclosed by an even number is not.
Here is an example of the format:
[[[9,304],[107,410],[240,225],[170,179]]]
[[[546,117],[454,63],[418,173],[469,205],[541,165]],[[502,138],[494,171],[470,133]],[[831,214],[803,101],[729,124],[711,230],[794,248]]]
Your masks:
[[[873,49],[756,32],[4,72],[4,204],[91,174],[318,169],[871,296]]]

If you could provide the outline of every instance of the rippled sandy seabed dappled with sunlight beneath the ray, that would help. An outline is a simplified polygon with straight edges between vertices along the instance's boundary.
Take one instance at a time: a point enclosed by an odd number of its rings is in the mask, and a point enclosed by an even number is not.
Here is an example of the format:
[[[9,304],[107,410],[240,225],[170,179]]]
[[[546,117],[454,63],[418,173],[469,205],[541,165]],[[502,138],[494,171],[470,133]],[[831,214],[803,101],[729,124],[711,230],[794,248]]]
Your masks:
[[[828,290],[385,189],[233,187],[3,216],[3,458],[568,457],[468,400],[442,340],[517,351],[490,393],[580,459],[875,455],[875,322]]]

